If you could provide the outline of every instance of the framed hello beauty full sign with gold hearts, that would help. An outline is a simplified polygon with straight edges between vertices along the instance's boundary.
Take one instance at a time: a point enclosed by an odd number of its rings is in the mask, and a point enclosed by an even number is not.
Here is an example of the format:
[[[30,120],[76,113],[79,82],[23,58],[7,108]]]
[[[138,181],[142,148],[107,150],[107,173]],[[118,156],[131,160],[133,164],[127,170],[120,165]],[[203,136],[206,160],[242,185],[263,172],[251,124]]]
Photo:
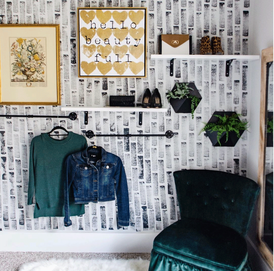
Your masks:
[[[78,76],[146,77],[147,8],[78,8]]]

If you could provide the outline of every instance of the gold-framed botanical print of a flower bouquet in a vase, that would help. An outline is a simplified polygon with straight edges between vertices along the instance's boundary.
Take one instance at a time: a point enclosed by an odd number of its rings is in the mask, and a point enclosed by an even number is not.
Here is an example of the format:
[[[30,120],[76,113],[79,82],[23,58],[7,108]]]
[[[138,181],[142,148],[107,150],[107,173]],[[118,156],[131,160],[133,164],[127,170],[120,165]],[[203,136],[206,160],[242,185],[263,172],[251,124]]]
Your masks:
[[[0,24],[0,104],[61,105],[57,24]]]

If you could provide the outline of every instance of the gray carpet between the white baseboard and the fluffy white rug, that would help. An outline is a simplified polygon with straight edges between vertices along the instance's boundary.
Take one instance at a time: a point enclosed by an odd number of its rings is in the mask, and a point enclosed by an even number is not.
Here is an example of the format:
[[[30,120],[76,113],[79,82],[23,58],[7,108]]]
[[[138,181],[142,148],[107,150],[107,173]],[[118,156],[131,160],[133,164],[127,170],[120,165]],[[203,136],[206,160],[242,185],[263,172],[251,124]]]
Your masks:
[[[18,271],[25,262],[42,259],[150,259],[150,253],[0,252],[0,271]]]

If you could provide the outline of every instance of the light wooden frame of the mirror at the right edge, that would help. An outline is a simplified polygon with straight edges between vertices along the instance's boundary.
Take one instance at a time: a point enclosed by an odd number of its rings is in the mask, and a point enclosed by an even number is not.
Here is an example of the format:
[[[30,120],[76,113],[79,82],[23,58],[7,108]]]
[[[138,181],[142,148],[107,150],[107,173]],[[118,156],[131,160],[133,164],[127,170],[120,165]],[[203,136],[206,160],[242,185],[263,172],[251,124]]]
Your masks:
[[[273,47],[262,50],[261,69],[261,108],[260,108],[260,135],[259,135],[259,164],[258,185],[261,187],[258,199],[257,238],[258,249],[262,256],[273,268],[273,252],[263,241],[264,210],[265,210],[265,147],[266,147],[266,63],[273,61]]]

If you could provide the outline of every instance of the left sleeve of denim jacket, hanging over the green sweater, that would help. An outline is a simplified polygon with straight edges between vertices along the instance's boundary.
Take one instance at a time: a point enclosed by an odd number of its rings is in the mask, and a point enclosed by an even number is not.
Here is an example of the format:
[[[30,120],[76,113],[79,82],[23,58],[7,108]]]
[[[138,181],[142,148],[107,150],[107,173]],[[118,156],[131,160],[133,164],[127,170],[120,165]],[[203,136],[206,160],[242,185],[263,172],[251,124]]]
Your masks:
[[[65,176],[65,184],[64,184],[64,209],[65,209],[65,217],[64,217],[64,224],[66,227],[70,226],[72,224],[72,221],[70,220],[70,211],[69,211],[69,189],[72,185],[74,175],[75,175],[75,169],[76,169],[76,162],[73,159],[72,155],[69,155],[65,162],[65,170],[66,170],[66,176]]]

